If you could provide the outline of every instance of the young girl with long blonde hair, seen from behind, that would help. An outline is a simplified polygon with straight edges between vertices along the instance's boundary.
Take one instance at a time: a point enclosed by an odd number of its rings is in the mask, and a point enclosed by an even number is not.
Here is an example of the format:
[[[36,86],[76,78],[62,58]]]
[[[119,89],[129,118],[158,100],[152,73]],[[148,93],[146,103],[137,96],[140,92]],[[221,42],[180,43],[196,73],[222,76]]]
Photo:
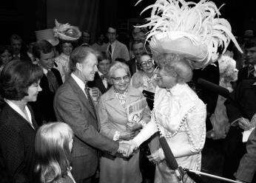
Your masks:
[[[36,133],[36,171],[42,183],[75,183],[70,173],[73,131],[64,122],[42,125]]]

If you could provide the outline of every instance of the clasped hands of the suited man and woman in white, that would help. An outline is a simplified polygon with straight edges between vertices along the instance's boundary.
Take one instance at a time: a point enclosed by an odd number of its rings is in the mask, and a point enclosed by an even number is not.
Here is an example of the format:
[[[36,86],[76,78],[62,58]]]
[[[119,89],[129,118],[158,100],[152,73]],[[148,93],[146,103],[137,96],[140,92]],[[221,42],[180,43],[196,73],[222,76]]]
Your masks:
[[[137,149],[138,145],[132,140],[120,141],[118,153],[121,153],[122,156],[129,157]]]

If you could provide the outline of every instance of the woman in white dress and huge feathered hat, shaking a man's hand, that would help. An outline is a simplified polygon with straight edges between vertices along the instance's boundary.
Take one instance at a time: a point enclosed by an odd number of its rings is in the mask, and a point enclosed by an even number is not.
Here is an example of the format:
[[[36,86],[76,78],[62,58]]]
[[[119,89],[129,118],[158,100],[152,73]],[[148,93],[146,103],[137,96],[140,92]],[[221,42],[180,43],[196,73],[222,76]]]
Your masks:
[[[226,19],[212,1],[196,4],[183,0],[157,0],[152,8],[146,40],[160,67],[152,120],[129,141],[132,150],[160,132],[182,168],[201,170],[201,151],[206,138],[206,105],[186,84],[192,69],[201,69],[218,58],[218,46],[226,51],[230,39],[238,46]],[[238,46],[238,49],[240,47]],[[156,166],[155,182],[180,182],[167,165],[162,148],[152,152],[149,161]],[[186,174],[183,182],[193,182]]]

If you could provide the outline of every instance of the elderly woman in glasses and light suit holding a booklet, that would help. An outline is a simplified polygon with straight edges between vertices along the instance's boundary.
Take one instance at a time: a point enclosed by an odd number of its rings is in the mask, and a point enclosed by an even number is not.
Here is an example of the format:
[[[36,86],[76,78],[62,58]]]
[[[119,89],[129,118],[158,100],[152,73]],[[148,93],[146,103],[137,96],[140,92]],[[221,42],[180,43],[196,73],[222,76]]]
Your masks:
[[[150,110],[144,95],[130,86],[129,67],[125,63],[114,62],[108,74],[112,87],[101,96],[98,114],[101,121],[101,134],[116,141],[129,140],[138,134],[142,125],[150,120]],[[140,183],[139,151],[129,158],[101,157],[100,182]]]

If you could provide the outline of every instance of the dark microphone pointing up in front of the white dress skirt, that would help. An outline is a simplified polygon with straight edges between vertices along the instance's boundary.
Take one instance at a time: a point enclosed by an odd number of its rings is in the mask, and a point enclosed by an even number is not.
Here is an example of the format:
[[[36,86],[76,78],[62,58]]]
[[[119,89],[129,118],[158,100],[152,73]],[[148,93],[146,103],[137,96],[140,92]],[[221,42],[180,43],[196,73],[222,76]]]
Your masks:
[[[175,156],[172,153],[172,150],[169,148],[169,145],[166,142],[166,139],[164,137],[160,137],[159,142],[160,142],[161,147],[164,151],[164,156],[165,156],[167,165],[172,170],[175,170],[175,173],[178,177],[178,180],[181,181],[182,175],[181,175],[180,169],[178,167],[178,162],[176,161]],[[181,170],[182,170],[182,168],[181,168]]]

